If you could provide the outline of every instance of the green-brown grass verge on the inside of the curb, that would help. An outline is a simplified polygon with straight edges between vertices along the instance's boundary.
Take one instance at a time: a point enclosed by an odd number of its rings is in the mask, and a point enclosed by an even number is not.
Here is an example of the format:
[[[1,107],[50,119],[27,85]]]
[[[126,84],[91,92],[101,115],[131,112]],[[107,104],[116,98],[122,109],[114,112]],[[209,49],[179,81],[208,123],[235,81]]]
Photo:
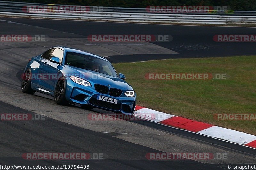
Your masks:
[[[153,110],[256,135],[256,120],[216,120],[214,114],[256,114],[256,57],[169,59],[113,64]],[[224,73],[226,80],[148,80],[147,73]]]

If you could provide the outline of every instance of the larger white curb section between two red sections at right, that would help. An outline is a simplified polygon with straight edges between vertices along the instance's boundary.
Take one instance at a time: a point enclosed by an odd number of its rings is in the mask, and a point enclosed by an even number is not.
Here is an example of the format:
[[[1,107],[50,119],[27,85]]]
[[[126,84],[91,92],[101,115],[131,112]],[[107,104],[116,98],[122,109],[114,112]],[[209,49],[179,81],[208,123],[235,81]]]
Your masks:
[[[248,144],[256,140],[256,136],[254,135],[247,134],[244,132],[239,132],[236,130],[226,129],[218,126],[212,126],[210,128],[201,130],[198,133],[206,136],[210,136],[210,137],[227,140],[237,144]]]

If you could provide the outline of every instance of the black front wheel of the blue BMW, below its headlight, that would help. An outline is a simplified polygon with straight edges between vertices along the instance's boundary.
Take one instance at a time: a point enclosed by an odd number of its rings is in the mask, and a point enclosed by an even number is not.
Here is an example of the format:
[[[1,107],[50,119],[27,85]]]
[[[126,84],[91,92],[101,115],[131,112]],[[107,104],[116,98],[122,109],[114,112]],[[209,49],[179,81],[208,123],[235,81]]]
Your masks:
[[[66,99],[66,87],[66,79],[60,78],[54,90],[54,100],[58,105],[68,105]]]

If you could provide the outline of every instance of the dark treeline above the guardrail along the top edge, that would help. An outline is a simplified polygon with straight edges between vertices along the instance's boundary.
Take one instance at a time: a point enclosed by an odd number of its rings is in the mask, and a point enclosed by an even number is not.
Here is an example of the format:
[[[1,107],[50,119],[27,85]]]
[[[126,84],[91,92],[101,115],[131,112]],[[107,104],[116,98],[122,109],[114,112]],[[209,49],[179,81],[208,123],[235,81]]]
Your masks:
[[[42,4],[145,8],[163,6],[229,6],[230,10],[256,11],[256,0],[11,0]]]

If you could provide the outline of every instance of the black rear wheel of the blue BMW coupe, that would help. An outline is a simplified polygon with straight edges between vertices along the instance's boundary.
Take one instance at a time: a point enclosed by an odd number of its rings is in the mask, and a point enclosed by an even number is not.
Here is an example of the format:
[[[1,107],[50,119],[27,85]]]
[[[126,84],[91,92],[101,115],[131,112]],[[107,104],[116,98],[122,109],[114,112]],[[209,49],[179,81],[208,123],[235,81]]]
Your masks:
[[[21,90],[23,93],[35,94],[35,90],[31,89],[31,70],[27,69],[22,77]]]

